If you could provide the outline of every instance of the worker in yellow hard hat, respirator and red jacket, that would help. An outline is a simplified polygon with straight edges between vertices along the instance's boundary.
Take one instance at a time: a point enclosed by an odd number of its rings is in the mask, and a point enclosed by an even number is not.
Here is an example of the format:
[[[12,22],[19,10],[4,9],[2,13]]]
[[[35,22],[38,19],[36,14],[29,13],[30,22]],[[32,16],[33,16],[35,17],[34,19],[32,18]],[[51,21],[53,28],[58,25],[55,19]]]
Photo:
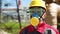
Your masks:
[[[43,0],[32,0],[29,6],[30,25],[23,28],[20,34],[59,34],[57,29],[46,24],[46,12]]]

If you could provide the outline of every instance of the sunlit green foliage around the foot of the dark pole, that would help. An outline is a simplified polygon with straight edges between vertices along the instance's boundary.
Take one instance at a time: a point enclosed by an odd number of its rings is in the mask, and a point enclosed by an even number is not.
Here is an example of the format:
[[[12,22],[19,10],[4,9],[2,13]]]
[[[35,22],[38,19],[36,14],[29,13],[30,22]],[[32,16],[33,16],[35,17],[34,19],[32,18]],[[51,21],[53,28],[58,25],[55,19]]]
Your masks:
[[[22,27],[26,27],[29,23],[22,23]],[[19,23],[9,21],[7,23],[0,24],[0,29],[5,30],[8,33],[11,34],[19,34],[20,28]]]

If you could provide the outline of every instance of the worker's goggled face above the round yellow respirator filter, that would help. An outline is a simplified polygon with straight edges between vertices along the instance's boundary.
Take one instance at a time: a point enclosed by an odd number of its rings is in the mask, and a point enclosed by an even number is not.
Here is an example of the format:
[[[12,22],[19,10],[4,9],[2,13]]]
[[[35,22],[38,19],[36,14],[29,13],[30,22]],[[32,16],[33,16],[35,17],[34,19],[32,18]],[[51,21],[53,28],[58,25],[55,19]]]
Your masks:
[[[30,9],[31,18],[32,17],[42,18],[44,13],[45,13],[45,10],[43,8],[33,7]]]

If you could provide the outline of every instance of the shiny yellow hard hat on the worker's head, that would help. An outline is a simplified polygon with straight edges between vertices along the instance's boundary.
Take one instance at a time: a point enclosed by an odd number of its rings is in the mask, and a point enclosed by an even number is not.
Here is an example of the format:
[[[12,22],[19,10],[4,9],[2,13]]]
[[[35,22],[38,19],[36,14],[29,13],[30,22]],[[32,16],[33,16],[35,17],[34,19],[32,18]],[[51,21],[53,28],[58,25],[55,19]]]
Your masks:
[[[45,2],[43,0],[32,0],[30,7],[35,7],[35,6],[43,7],[44,9],[46,9]]]

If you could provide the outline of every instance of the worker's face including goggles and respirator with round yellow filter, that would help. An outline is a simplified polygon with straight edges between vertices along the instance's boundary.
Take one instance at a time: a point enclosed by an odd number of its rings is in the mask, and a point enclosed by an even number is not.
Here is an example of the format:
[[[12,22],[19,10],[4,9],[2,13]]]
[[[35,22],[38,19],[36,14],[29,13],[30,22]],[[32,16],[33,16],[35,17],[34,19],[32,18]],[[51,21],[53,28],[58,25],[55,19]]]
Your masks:
[[[43,14],[45,13],[45,9],[42,7],[33,7],[30,8],[30,23],[33,26],[37,26],[41,21]]]

